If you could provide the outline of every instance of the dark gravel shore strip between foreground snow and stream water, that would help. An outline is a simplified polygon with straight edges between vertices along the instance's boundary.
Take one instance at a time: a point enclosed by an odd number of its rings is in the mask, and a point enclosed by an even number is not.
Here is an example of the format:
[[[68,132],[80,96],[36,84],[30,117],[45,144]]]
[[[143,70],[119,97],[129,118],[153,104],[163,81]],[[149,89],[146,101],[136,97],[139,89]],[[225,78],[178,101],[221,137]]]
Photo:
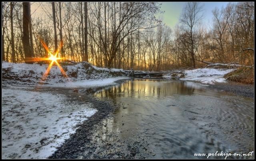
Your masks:
[[[123,81],[118,81],[121,82]],[[114,117],[114,111],[121,107],[110,99],[98,99],[92,96],[100,88],[80,89],[78,93],[72,89],[56,89],[58,93],[68,91],[68,95],[78,98],[76,101],[81,104],[86,101],[93,103],[97,112],[84,121],[76,133],[72,134],[70,139],[66,140],[48,159],[145,159],[148,156],[146,153],[136,151],[136,148],[146,147],[146,141],[122,141],[118,136],[108,133],[111,127],[105,121]]]

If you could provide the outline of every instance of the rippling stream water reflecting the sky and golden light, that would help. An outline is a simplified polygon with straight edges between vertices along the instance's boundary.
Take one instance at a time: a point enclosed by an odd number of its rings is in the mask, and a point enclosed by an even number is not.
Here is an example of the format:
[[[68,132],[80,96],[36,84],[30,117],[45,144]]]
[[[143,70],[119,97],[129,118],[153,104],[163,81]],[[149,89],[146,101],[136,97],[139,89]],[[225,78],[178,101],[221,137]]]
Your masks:
[[[202,159],[194,153],[254,151],[253,99],[170,80],[128,80],[94,96],[120,106],[97,128],[94,141],[116,144],[114,151],[134,158]]]

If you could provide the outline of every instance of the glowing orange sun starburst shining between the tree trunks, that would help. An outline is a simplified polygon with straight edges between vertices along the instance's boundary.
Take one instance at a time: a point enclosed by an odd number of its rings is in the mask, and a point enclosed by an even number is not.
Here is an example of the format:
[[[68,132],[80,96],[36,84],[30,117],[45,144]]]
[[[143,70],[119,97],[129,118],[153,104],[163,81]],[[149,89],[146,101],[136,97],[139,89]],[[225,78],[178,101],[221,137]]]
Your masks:
[[[48,52],[49,58],[30,58],[30,59],[28,59],[28,60],[26,60],[26,61],[28,61],[28,62],[39,62],[39,61],[47,61],[47,60],[50,60],[50,61],[51,61],[50,64],[49,64],[49,66],[48,66],[48,68],[46,69],[44,75],[42,76],[42,80],[43,80],[43,81],[47,78],[47,76],[48,76],[48,74],[49,74],[49,72],[50,72],[50,70],[51,70],[51,68],[52,68],[52,65],[53,65],[54,63],[58,66],[58,68],[60,69],[60,72],[62,73],[62,75],[63,75],[64,77],[66,77],[67,74],[65,73],[65,71],[63,70],[63,68],[62,68],[62,67],[60,66],[60,64],[58,63],[58,60],[65,60],[65,58],[58,58],[58,57],[57,57],[57,55],[58,55],[59,52],[60,52],[60,49],[61,49],[62,46],[63,46],[63,42],[60,42],[60,46],[58,47],[58,50],[56,50],[56,51],[54,52],[54,54],[52,54],[52,53],[50,52],[49,48],[47,47],[47,45],[45,44],[45,42],[44,42],[42,39],[40,40],[40,42],[41,42],[41,44],[44,46],[45,50]]]

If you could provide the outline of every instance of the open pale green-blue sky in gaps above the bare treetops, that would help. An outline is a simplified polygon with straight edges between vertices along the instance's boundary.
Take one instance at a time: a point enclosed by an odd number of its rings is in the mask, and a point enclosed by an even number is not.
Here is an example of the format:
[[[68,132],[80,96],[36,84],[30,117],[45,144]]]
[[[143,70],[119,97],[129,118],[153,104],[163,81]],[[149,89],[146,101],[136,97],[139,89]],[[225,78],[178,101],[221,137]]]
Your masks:
[[[165,11],[162,15],[163,22],[174,28],[174,26],[179,22],[180,14],[182,12],[182,8],[185,6],[186,2],[160,2],[161,10]],[[204,25],[212,26],[212,10],[215,7],[222,8],[226,7],[229,2],[201,2],[204,4]]]

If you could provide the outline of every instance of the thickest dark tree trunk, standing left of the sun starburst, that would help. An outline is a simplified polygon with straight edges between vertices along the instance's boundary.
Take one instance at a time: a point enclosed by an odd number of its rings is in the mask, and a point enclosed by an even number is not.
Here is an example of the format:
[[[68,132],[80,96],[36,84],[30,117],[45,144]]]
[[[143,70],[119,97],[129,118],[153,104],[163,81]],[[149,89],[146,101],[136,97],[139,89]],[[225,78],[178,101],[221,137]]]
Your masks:
[[[29,39],[29,2],[22,2],[23,6],[23,21],[22,21],[22,29],[23,29],[23,50],[25,55],[25,63],[32,64],[30,61],[32,55],[30,52],[30,39]]]

